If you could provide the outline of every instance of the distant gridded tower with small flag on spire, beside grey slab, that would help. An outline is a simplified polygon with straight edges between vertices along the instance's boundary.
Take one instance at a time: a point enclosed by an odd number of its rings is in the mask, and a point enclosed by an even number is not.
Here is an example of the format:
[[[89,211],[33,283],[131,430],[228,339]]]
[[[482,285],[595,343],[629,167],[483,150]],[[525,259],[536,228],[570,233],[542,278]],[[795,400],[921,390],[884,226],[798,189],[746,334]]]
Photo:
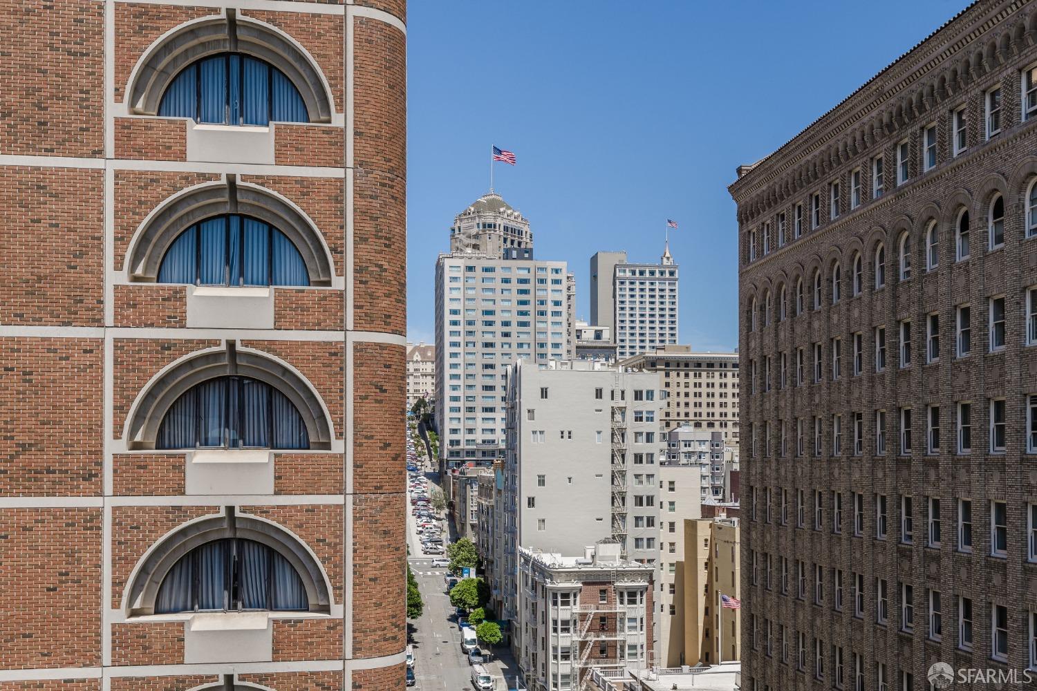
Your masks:
[[[669,246],[658,264],[598,252],[590,258],[590,319],[613,330],[617,357],[677,343],[677,264]]]

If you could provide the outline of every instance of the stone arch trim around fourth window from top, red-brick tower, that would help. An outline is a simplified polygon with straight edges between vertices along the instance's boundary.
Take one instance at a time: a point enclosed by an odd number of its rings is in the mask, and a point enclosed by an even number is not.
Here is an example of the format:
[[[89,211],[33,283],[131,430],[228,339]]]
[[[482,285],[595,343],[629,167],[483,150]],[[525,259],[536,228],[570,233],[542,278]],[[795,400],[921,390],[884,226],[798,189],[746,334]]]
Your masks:
[[[328,613],[335,604],[328,571],[302,538],[261,516],[228,513],[224,509],[177,525],[147,548],[134,565],[122,591],[123,614],[128,618],[153,614],[159,587],[176,562],[196,547],[227,538],[253,540],[285,557],[303,581],[309,611]]]

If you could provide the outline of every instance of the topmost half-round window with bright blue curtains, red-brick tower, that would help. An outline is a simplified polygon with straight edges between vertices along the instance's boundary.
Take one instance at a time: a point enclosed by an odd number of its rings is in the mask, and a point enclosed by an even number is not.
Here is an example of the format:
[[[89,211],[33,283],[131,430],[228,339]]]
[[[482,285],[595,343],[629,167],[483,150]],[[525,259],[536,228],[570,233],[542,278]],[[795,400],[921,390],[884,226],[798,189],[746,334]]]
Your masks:
[[[310,119],[299,89],[280,69],[237,53],[202,58],[181,69],[162,94],[159,115],[261,126]]]

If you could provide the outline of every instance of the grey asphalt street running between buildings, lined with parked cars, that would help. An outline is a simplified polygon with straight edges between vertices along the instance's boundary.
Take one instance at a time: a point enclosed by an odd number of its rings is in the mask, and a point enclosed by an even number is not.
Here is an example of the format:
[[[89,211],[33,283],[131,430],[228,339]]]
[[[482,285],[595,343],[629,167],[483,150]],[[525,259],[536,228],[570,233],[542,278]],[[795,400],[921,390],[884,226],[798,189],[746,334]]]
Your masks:
[[[426,472],[428,490],[439,487],[438,473]],[[432,568],[432,556],[424,556],[418,539],[417,522],[413,512],[408,511],[407,539],[411,556],[411,571],[418,580],[424,610],[417,621],[410,622],[414,628],[411,636],[414,646],[414,673],[419,691],[472,691],[471,666],[460,649],[460,632],[454,623],[453,607],[447,594],[445,574],[447,569]],[[450,530],[452,534],[452,530]],[[444,540],[447,540],[447,531]],[[507,689],[503,675],[514,678],[514,666],[503,646],[494,651],[495,655],[486,664],[486,669],[495,678],[496,691]],[[497,654],[504,654],[503,659]],[[513,686],[513,684],[512,684]]]

